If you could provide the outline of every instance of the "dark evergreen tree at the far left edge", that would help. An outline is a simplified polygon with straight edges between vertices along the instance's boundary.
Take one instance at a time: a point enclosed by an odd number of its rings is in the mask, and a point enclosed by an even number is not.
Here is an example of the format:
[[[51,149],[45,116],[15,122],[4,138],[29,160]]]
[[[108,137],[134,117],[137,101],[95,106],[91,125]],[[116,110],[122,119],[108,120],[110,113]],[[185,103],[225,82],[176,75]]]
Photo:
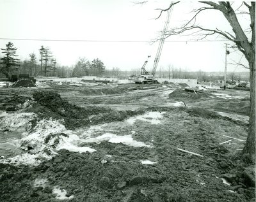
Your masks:
[[[8,42],[6,48],[1,48],[1,50],[3,50],[2,53],[5,55],[1,58],[3,65],[0,71],[6,78],[11,78],[12,72],[17,70],[19,66],[19,59],[16,58],[18,56],[16,55],[17,48],[13,47],[12,42]]]

